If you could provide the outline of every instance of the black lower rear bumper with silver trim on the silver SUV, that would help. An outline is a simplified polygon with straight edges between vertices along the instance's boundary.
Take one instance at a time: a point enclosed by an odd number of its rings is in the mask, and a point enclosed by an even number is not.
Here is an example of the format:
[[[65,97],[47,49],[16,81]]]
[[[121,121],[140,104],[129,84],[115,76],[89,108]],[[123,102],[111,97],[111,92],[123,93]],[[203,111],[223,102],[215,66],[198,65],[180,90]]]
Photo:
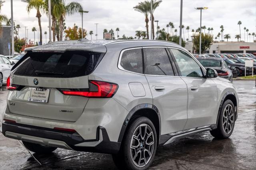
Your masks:
[[[52,128],[36,127],[20,123],[2,123],[2,134],[8,138],[23,140],[77,151],[116,154],[119,142],[112,142],[104,127],[97,128],[96,139],[84,140],[77,132],[66,132]]]

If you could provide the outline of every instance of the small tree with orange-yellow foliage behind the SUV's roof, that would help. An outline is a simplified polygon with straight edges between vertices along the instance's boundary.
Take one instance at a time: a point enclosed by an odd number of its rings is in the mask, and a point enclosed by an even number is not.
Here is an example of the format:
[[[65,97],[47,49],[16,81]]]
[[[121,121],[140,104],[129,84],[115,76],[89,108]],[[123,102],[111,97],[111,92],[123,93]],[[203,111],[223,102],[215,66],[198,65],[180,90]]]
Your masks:
[[[78,28],[76,24],[74,24],[73,28],[68,27],[65,32],[65,40],[78,40],[82,38],[82,28]],[[86,37],[87,32],[84,30],[84,35],[83,37]]]

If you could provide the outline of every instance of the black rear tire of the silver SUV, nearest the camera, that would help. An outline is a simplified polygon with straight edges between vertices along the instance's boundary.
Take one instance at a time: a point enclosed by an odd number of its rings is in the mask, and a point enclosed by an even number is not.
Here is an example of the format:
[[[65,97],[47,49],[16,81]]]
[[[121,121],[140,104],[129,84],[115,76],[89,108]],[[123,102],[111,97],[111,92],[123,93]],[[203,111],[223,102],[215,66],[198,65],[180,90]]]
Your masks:
[[[144,131],[144,129],[147,132],[147,134],[144,133],[145,135],[142,134],[142,136],[144,136],[144,139],[142,139],[142,137],[138,134],[138,141],[140,140],[141,142],[138,142],[138,146],[136,146],[136,149],[131,149],[130,145],[131,145],[131,140],[133,138],[133,135],[136,134],[138,130]],[[154,136],[148,135],[148,133],[151,134],[150,130],[152,130],[152,134]],[[145,140],[145,138],[147,139]],[[154,143],[150,142],[150,140]],[[133,140],[133,142],[134,141],[137,141],[137,140]],[[136,142],[134,142],[133,144],[136,145],[135,143]],[[149,146],[146,143],[152,143],[152,145]],[[157,147],[157,136],[156,136],[156,129],[153,123],[146,117],[138,117],[129,125],[128,129],[126,130],[126,133],[124,134],[124,139],[121,144],[120,152],[118,154],[113,154],[112,158],[114,163],[119,169],[145,170],[150,166],[150,164],[154,159],[154,156],[156,154],[156,147]],[[134,155],[135,161],[137,160],[137,158],[140,157],[139,154],[136,156],[135,150],[143,153],[147,152],[147,150],[152,152],[151,157],[149,154],[146,154],[147,155],[146,161],[144,162],[145,159],[141,161],[142,162],[141,167],[137,166],[138,164],[136,165],[136,163],[134,163],[132,160],[132,155]]]

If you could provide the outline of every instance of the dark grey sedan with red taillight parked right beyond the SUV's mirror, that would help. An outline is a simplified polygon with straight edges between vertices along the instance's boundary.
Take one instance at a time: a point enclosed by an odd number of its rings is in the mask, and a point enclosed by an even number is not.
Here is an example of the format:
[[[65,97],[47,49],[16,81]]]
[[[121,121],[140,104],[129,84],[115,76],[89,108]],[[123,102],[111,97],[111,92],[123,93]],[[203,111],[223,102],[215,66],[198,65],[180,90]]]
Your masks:
[[[208,58],[197,58],[197,59],[206,69],[207,68],[215,69],[219,77],[228,79],[231,82],[233,81],[233,73],[228,68],[228,65],[225,63],[225,61],[222,58],[208,57]]]

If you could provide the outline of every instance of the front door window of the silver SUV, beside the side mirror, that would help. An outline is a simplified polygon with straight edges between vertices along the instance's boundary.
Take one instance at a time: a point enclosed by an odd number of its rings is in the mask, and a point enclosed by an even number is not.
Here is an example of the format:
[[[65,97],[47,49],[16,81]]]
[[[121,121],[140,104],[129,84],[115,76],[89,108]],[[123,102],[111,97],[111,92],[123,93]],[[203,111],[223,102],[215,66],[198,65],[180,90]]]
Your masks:
[[[203,77],[201,67],[190,55],[178,49],[171,49],[183,77]]]

